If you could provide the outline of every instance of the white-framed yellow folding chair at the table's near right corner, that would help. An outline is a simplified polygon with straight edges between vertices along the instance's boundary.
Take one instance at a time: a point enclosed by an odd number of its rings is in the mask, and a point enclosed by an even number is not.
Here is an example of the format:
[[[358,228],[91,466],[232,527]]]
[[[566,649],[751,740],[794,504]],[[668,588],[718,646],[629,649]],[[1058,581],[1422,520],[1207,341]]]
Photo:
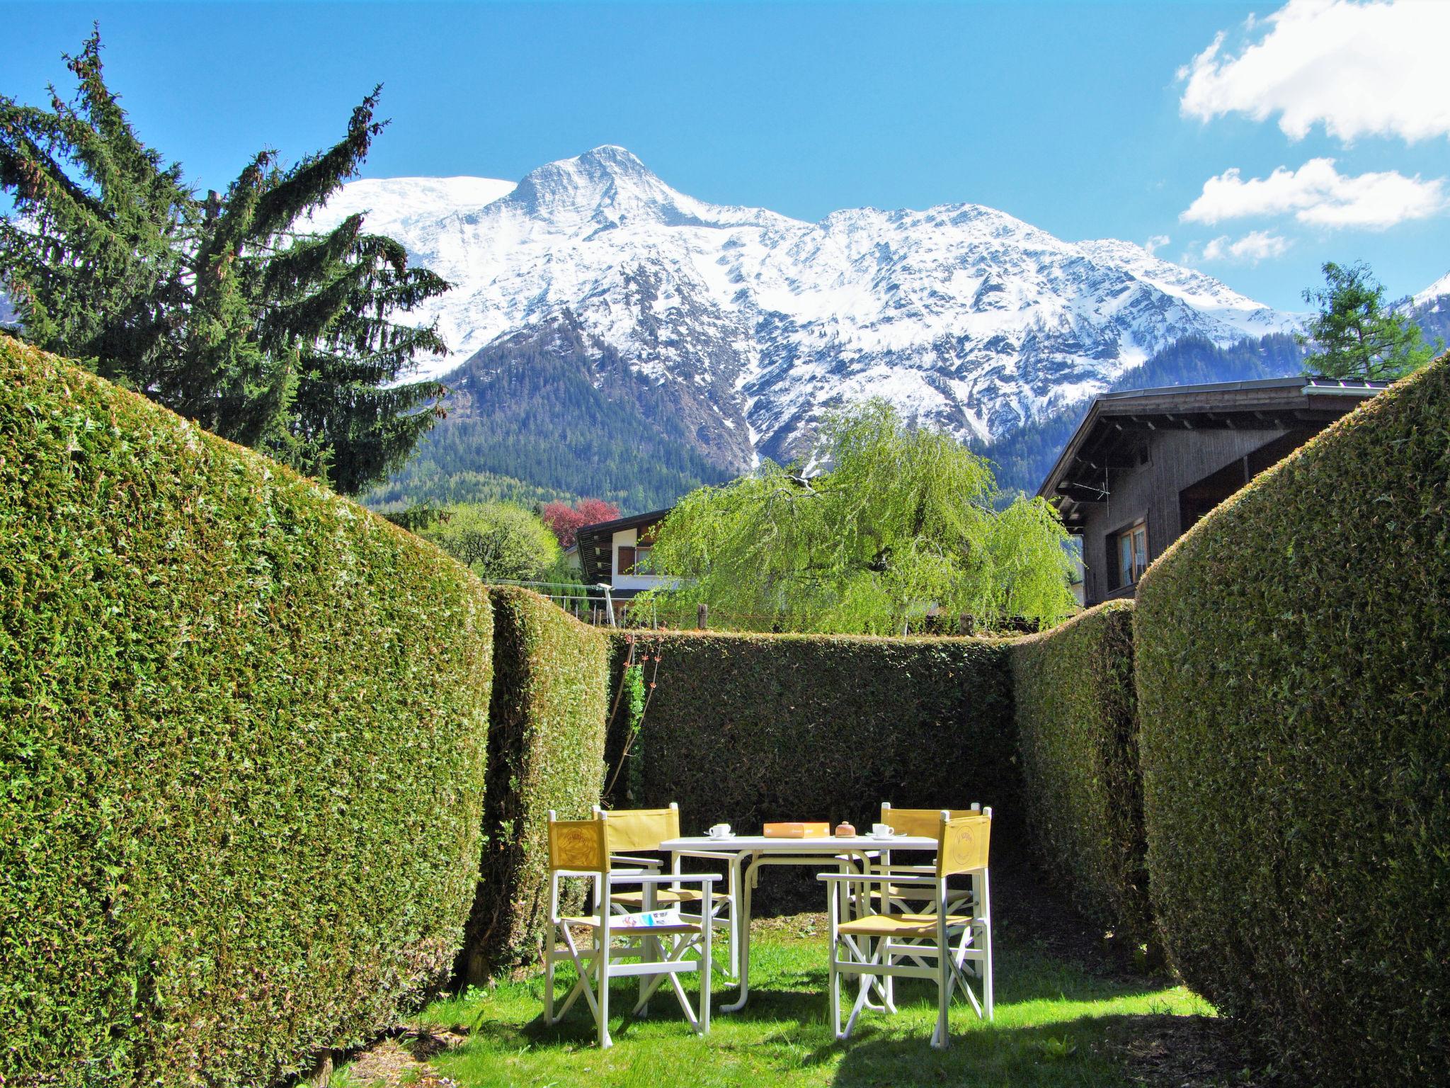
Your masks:
[[[850,1039],[857,1017],[867,1007],[873,989],[880,989],[886,1011],[895,1013],[890,992],[883,984],[893,978],[929,978],[937,982],[937,1027],[931,1044],[945,1047],[947,1007],[960,986],[985,1020],[992,1018],[992,911],[987,897],[987,846],[992,838],[992,809],[953,818],[938,812],[937,865],[928,875],[896,872],[819,873],[816,879],[847,886],[879,885],[880,914],[841,918],[835,888],[826,897],[831,920],[831,1021],[837,1039]],[[947,878],[957,873],[972,876],[967,910],[948,912],[953,902]],[[924,888],[931,891],[929,911],[893,911],[893,897],[887,885]],[[840,883],[835,883],[840,886]],[[870,902],[869,895],[854,897]],[[928,963],[931,960],[931,963]],[[841,1029],[841,975],[860,978],[860,992],[851,1015]],[[969,985],[976,979],[982,991],[979,1000]]]

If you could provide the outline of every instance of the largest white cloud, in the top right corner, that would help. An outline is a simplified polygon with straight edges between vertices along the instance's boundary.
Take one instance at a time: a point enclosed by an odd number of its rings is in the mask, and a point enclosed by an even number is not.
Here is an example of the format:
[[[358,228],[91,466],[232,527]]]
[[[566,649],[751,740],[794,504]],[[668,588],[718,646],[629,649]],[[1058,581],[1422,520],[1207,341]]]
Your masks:
[[[1185,115],[1266,120],[1277,113],[1290,139],[1320,123],[1341,141],[1450,136],[1446,0],[1289,0],[1244,25],[1248,36],[1264,28],[1237,55],[1225,52],[1219,33],[1179,70],[1188,84],[1179,102]]]

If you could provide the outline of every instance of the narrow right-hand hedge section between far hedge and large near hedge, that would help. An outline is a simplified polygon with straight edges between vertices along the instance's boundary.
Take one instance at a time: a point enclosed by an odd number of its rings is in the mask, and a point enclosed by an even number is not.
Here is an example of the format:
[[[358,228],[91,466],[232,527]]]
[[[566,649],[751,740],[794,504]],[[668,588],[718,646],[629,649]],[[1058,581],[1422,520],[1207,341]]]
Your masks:
[[[1012,646],[1024,804],[1038,859],[1093,921],[1151,937],[1144,869],[1132,602]]]

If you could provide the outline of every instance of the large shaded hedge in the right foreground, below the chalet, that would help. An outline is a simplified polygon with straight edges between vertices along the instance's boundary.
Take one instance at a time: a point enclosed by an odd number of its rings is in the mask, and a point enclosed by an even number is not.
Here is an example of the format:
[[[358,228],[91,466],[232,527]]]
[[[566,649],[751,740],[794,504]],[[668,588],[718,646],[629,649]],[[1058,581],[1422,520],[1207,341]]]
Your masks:
[[[1183,978],[1311,1084],[1450,1069],[1450,357],[1147,573],[1153,902]]]

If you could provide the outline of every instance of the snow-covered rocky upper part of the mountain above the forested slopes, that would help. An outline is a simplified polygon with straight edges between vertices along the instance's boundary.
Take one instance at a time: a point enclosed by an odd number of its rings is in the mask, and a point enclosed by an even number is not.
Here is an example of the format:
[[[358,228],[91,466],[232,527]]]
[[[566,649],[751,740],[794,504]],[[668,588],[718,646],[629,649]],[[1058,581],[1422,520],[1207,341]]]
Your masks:
[[[454,283],[422,313],[452,348],[425,370],[467,361],[451,383],[473,390],[471,411],[521,345],[567,342],[596,387],[677,413],[732,470],[799,453],[842,400],[884,396],[986,440],[1182,337],[1298,323],[1130,242],[1064,242],[977,205],[808,223],[689,197],[618,147],[516,186],[355,181],[318,225],[357,210]]]

